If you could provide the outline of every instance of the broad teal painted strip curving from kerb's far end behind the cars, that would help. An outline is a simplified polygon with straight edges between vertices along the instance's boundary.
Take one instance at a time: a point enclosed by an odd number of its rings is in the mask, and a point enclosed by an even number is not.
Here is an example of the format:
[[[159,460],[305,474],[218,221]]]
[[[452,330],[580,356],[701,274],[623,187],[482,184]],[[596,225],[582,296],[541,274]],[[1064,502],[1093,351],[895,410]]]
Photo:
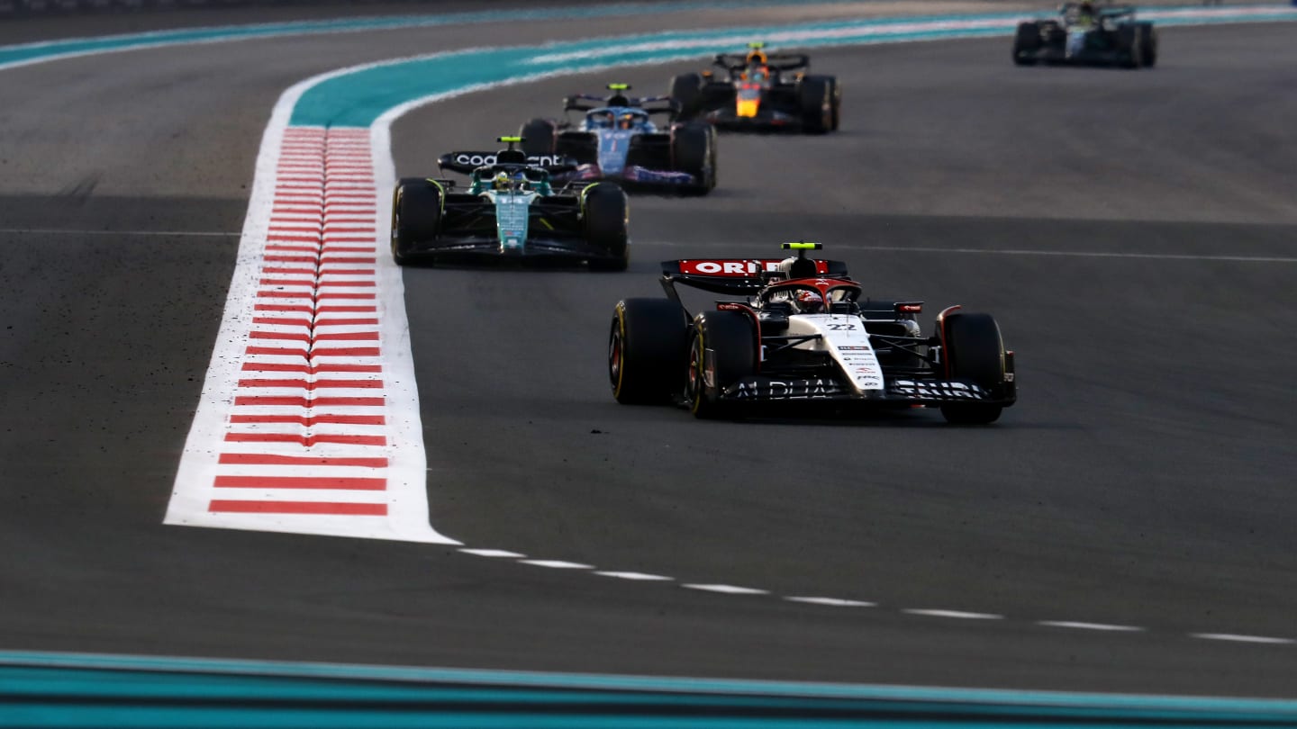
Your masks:
[[[1160,8],[1158,14],[1187,13],[1157,19],[1160,25],[1217,25],[1297,21],[1297,9],[1274,5],[1231,8]],[[1198,13],[1198,14],[1195,14]],[[1259,13],[1259,14],[1258,14]],[[397,58],[359,66],[326,78],[302,93],[293,110],[293,126],[368,127],[387,110],[420,99],[462,93],[486,86],[521,83],[546,77],[588,73],[629,65],[660,64],[707,57],[732,51],[752,38],[795,35],[795,48],[912,43],[942,39],[1010,35],[1022,13],[870,18],[777,27],[742,27],[713,31],[672,31],[620,38],[588,39],[562,44],[471,48],[423,57]],[[900,30],[898,26],[938,27]],[[962,23],[965,27],[942,27]],[[970,26],[970,27],[969,27]],[[805,38],[807,34],[825,34]],[[687,47],[681,47],[686,44]],[[508,130],[523,119],[503,121]]]

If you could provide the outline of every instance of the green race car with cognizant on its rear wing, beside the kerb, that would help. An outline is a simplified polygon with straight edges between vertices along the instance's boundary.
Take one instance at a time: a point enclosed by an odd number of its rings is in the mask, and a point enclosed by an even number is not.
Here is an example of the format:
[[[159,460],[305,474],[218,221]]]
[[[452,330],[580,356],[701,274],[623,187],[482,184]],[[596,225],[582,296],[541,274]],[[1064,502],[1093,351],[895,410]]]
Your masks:
[[[624,271],[630,258],[626,193],[610,183],[559,189],[551,174],[571,173],[569,160],[528,157],[508,149],[451,152],[437,166],[468,175],[405,178],[392,195],[392,257],[410,261],[547,258],[585,261],[591,270]]]

